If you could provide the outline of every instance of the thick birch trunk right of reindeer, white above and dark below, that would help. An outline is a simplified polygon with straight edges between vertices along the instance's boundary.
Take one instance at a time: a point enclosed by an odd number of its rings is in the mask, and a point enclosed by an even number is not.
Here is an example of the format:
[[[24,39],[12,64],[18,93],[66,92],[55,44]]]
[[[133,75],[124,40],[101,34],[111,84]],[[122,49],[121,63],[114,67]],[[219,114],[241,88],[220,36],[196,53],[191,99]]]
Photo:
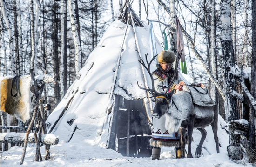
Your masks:
[[[230,0],[221,0],[221,45],[224,57],[224,66],[235,66],[235,57],[233,44],[231,40],[231,17],[230,17]],[[235,90],[235,77],[234,75],[224,71],[224,88],[226,96],[226,121],[238,120],[237,101],[227,92],[227,88],[231,87]],[[240,149],[240,136],[238,134],[231,134],[229,132],[229,146],[227,147],[229,158],[233,160],[241,160],[243,155]]]

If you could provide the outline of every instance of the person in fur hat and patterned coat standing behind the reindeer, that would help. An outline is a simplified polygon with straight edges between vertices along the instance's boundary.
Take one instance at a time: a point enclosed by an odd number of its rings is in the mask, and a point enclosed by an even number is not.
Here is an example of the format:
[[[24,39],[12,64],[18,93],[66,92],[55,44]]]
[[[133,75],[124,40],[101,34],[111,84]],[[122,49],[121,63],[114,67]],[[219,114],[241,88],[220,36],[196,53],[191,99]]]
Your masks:
[[[188,84],[188,81],[182,76],[181,73],[177,73],[176,76],[175,70],[172,68],[172,65],[175,61],[175,53],[173,51],[164,50],[157,56],[157,69],[152,73],[153,78],[155,79],[154,85],[155,90],[158,92],[165,91],[160,86],[168,86],[171,80],[176,78],[175,84],[170,88],[170,90],[175,89],[175,92],[181,91],[182,86],[179,85],[180,81]],[[150,140],[150,145],[153,146],[152,149],[152,160],[160,158],[161,146],[175,146],[176,158],[181,157],[180,150],[180,136],[179,132],[174,134],[169,134],[165,129],[165,116],[163,115],[160,119],[153,118],[153,128],[152,128],[152,139]]]

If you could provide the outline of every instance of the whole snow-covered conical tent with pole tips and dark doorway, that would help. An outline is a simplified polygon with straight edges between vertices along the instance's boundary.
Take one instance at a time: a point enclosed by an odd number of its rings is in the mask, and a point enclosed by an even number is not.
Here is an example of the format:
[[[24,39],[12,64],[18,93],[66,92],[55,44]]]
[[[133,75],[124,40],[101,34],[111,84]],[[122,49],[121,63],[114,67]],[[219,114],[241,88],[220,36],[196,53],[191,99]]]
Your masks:
[[[142,87],[151,85],[138,61],[150,53],[148,25],[136,20],[131,8],[123,9],[122,19],[108,27],[79,72],[80,78],[47,119],[48,131],[58,136],[59,143],[81,142],[122,152],[129,144],[128,135],[137,150],[142,150],[143,144],[149,148],[152,104],[146,91],[137,85],[137,81]],[[158,41],[156,47],[162,50]],[[133,152],[137,151],[130,155]]]

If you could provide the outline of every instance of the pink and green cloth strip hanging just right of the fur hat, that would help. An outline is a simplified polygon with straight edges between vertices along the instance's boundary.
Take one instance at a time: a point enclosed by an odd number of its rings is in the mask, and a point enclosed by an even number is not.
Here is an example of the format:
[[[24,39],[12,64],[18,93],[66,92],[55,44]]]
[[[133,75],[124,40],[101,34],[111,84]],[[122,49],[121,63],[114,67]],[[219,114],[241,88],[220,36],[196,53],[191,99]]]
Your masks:
[[[183,50],[182,56],[181,56],[182,73],[188,74],[186,60],[185,60],[185,53],[184,53],[184,40],[183,40],[183,34],[182,34],[182,27],[180,25],[180,21],[178,17],[176,17],[176,22],[177,22],[177,49],[178,49],[178,52]]]

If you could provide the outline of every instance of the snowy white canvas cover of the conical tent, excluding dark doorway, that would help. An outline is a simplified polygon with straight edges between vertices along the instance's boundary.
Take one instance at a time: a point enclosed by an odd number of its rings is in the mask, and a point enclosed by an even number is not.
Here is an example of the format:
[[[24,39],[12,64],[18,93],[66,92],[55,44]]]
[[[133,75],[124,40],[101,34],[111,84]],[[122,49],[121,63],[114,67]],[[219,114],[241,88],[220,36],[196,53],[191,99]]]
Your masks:
[[[68,89],[60,104],[47,119],[49,129],[58,119],[71,97],[67,111],[52,131],[60,140],[65,142],[83,142],[90,145],[105,146],[108,137],[108,127],[104,126],[108,119],[107,107],[111,86],[114,80],[115,67],[121,52],[121,44],[125,34],[126,24],[121,20],[114,21],[103,35],[98,46],[88,57],[85,66],[81,69],[81,77],[75,80]],[[141,56],[150,54],[148,40],[148,25],[135,28]],[[161,51],[160,43],[156,41],[157,51]],[[135,35],[131,25],[128,25],[127,34],[122,48],[121,64],[115,84],[114,94],[119,94],[127,100],[137,100],[147,97],[139,84],[144,86],[139,54],[135,43]],[[150,57],[150,56],[148,56]],[[155,63],[152,63],[155,66]],[[151,67],[152,71],[156,67]],[[146,73],[149,86],[151,80]]]

